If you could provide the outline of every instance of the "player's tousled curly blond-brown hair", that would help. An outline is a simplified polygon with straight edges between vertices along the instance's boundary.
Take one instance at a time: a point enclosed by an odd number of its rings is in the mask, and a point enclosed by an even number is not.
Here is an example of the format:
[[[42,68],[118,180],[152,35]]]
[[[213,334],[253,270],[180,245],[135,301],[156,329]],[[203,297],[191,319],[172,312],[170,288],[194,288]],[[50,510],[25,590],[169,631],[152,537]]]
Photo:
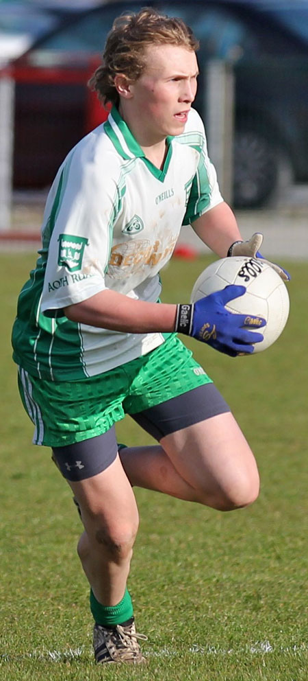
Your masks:
[[[119,102],[114,85],[118,73],[124,73],[131,82],[140,78],[149,45],[180,45],[190,51],[199,47],[192,30],[182,19],[159,14],[152,8],[144,8],[138,14],[121,14],[107,35],[103,63],[88,81],[103,104]]]

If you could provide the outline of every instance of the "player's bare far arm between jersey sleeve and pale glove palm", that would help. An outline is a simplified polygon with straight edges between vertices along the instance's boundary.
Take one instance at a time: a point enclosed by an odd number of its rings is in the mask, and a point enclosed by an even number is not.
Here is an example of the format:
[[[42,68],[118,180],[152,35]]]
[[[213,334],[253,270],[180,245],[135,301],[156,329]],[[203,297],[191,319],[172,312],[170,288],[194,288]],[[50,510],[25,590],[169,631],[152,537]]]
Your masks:
[[[235,215],[227,203],[204,213],[192,227],[203,243],[220,257],[226,257],[231,244],[242,240]]]

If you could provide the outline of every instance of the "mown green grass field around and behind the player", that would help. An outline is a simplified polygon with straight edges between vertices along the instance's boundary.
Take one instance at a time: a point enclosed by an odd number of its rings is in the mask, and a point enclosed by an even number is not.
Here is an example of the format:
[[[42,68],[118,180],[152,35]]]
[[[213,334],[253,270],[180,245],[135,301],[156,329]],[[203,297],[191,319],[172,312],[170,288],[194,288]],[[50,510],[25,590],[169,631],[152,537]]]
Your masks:
[[[209,260],[175,259],[164,300],[187,301]],[[129,588],[146,667],[96,667],[80,524],[47,448],[31,445],[11,360],[16,295],[34,257],[0,255],[1,650],[5,681],[307,681],[307,264],[292,272],[276,345],[229,359],[192,341],[253,446],[261,494],[219,513],[136,489],[141,524]],[[129,419],[120,441],[151,442]]]

